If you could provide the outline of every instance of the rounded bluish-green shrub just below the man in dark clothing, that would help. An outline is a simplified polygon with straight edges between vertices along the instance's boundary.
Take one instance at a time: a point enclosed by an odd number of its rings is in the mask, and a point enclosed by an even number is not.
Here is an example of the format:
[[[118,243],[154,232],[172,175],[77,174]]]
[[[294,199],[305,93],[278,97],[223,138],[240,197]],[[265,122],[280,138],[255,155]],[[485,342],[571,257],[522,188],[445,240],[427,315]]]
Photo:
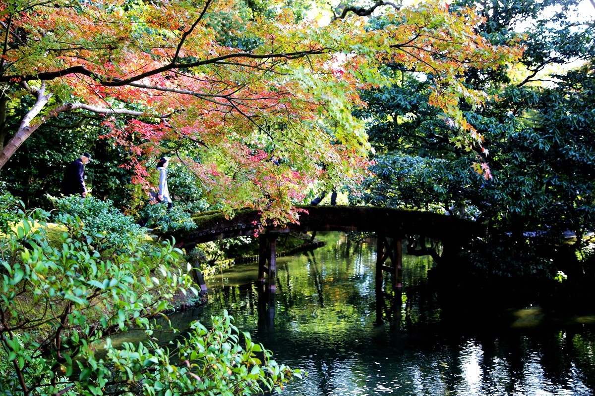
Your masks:
[[[74,195],[49,198],[58,210],[55,220],[65,224],[73,237],[86,240],[99,251],[130,252],[131,243],[145,235],[134,219],[118,211],[111,201]]]

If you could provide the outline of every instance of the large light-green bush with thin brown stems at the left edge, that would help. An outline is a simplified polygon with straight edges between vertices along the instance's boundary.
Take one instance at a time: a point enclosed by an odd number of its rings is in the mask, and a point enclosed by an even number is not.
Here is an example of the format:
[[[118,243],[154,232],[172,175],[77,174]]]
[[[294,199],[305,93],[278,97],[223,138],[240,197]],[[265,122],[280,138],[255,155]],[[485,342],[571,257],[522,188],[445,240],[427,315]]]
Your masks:
[[[89,394],[72,378],[65,388],[57,378],[71,376],[80,362],[96,365],[104,332],[148,327],[143,317],[168,308],[175,290],[193,290],[188,275],[170,269],[180,254],[170,245],[147,254],[133,243],[132,254],[103,259],[67,232],[49,243],[47,215],[23,213],[3,236],[10,249],[2,251],[0,345],[12,365],[0,374],[0,394],[49,395],[68,387]]]

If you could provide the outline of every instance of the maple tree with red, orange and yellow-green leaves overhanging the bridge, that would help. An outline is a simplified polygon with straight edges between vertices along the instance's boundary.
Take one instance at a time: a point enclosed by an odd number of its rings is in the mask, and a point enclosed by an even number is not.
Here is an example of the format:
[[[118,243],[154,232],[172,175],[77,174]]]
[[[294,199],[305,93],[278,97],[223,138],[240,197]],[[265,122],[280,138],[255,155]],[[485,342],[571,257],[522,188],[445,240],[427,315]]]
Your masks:
[[[223,207],[292,221],[292,201],[313,180],[352,184],[365,175],[371,147],[350,109],[362,104],[359,90],[389,83],[378,72],[387,62],[432,74],[429,100],[452,142],[481,145],[458,103],[481,106],[486,94],[461,76],[511,62],[519,49],[476,34],[481,18],[469,8],[383,4],[344,7],[318,26],[296,23],[281,2],[271,4],[274,18],[220,0],[3,2],[1,113],[27,95],[35,102],[16,131],[3,131],[11,137],[0,168],[49,119],[100,113],[130,150],[135,182],[146,184],[146,161],[168,151]],[[356,15],[380,11],[376,28]]]

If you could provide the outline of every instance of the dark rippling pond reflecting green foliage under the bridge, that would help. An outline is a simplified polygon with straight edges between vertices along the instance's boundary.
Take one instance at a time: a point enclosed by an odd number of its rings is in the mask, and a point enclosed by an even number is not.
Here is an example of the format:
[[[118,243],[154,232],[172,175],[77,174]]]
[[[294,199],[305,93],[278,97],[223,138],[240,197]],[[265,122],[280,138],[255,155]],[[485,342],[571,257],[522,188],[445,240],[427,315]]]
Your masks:
[[[428,256],[403,256],[402,294],[377,301],[375,241],[322,239],[278,259],[273,296],[258,292],[258,266],[241,264],[207,281],[205,307],[172,321],[208,324],[227,309],[277,362],[308,372],[287,396],[594,394],[594,316],[440,296],[428,288]]]

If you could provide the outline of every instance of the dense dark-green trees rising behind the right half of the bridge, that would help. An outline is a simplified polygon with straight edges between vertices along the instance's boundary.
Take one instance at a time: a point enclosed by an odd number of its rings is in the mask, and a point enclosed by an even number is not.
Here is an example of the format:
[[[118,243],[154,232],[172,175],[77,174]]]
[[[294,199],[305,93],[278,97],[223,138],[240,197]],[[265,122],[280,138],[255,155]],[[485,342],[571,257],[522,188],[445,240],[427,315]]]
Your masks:
[[[451,8],[470,4],[475,3]],[[580,23],[573,14],[575,5],[548,0],[483,4],[486,20],[478,33],[494,43],[521,37],[525,52],[508,71],[461,74],[469,86],[494,95],[486,106],[460,104],[482,137],[481,148],[458,144],[449,125],[440,122],[440,111],[426,99],[436,84],[433,75],[420,78],[391,65],[397,83],[363,93],[368,107],[358,111],[369,120],[370,140],[378,150],[376,176],[368,179],[361,202],[440,211],[495,227],[488,245],[514,248],[497,249],[483,259],[474,256],[497,274],[536,273],[530,268],[555,274],[543,256],[551,251],[538,246],[560,243],[570,232],[577,235],[577,250],[584,249],[583,235],[595,226],[595,69],[588,62],[595,55],[595,36],[594,24]],[[553,69],[579,59],[578,68]],[[508,268],[500,268],[502,263]]]

